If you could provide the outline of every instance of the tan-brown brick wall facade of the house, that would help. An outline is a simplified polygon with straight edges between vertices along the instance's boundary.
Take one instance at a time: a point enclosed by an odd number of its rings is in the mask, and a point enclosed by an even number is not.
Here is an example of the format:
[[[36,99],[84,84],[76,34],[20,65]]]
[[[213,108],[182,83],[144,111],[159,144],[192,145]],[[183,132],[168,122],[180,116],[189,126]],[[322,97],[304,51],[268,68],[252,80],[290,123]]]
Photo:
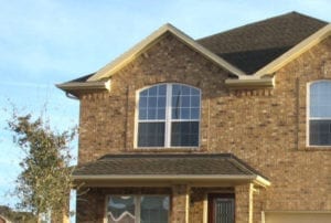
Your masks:
[[[268,210],[331,211],[331,149],[306,146],[307,83],[331,78],[331,38],[280,68],[274,89],[228,89],[227,76],[171,34],[163,36],[111,77],[109,93],[81,96],[79,163],[121,152],[231,152],[271,182],[258,194],[250,184],[234,188],[236,222],[260,222]],[[202,91],[199,149],[135,149],[136,92],[157,83]],[[188,208],[180,187],[170,192],[178,201],[172,222],[185,222],[188,214],[189,222],[202,222],[207,190],[190,189],[190,213],[179,216]],[[82,195],[78,222],[103,222],[111,190],[92,188]]]

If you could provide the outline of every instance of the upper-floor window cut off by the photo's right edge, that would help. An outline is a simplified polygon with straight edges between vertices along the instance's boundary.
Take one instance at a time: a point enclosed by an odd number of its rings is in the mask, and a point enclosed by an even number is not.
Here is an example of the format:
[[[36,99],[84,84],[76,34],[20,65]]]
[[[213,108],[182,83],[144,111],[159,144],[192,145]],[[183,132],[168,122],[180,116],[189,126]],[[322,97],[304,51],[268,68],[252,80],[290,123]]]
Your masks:
[[[331,81],[309,85],[309,146],[331,146]]]

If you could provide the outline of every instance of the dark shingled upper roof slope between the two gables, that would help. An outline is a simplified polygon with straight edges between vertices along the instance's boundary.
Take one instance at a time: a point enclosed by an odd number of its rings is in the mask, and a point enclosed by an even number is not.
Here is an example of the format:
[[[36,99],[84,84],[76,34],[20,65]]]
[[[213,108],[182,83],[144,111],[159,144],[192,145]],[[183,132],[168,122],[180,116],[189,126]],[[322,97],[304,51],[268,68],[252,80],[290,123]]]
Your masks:
[[[327,24],[290,12],[203,38],[197,42],[246,74],[254,74]]]

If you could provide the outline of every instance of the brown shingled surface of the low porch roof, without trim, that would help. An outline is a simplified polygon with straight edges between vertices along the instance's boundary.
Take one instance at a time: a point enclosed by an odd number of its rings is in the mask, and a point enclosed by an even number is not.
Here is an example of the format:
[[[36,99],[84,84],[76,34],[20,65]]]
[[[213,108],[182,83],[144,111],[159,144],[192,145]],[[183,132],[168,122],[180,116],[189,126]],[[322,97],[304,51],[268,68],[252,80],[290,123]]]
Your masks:
[[[153,174],[256,176],[259,173],[231,153],[108,155],[77,167],[74,171],[74,176]]]

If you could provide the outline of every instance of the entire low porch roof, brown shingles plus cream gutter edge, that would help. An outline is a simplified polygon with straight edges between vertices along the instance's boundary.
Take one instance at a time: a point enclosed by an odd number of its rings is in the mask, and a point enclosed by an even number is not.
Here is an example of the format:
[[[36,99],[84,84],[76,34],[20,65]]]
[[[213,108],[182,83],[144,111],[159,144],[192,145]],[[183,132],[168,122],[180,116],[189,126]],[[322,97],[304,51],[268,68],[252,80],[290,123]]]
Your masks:
[[[270,182],[232,153],[126,153],[107,155],[78,166],[77,181],[232,181]]]

